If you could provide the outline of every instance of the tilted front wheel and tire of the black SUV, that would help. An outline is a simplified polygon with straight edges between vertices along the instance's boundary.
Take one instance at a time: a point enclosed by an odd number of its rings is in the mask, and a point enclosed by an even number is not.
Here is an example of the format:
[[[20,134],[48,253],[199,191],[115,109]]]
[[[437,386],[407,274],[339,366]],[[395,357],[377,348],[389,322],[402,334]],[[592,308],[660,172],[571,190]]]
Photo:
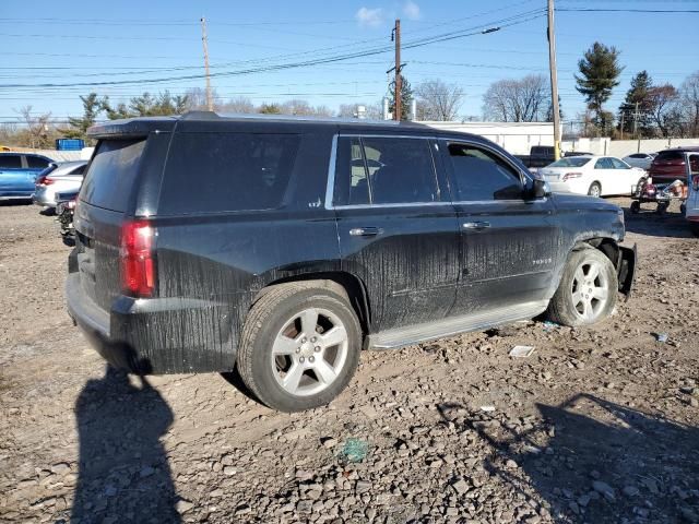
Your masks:
[[[596,276],[591,275],[593,269],[596,269]],[[584,293],[585,288],[594,291]],[[617,291],[616,271],[602,251],[594,248],[573,251],[548,303],[547,315],[554,322],[569,326],[601,322],[614,311]]]

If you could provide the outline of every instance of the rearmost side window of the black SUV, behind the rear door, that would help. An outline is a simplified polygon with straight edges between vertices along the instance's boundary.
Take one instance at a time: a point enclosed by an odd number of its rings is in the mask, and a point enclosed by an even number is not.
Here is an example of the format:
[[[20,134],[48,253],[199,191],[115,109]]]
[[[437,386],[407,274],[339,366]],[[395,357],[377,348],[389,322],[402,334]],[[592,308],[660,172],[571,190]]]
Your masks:
[[[299,143],[296,134],[178,133],[170,145],[158,213],[280,207]]]

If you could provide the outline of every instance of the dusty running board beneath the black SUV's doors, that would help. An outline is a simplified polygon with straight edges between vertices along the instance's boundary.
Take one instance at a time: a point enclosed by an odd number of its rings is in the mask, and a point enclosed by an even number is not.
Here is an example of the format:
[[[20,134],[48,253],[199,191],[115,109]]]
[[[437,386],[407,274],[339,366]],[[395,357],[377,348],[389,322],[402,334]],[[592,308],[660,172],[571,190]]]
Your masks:
[[[396,327],[369,335],[368,349],[393,349],[422,342],[445,338],[467,331],[481,331],[496,325],[509,324],[518,320],[529,320],[544,312],[548,300],[518,303],[479,313],[452,317],[436,322]]]

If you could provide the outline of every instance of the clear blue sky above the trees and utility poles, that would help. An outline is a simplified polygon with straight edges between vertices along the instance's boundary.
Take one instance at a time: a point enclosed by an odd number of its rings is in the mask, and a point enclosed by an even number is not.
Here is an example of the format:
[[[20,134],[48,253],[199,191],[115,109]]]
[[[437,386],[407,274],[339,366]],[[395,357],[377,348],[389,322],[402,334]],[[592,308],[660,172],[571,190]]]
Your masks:
[[[27,105],[56,120],[80,116],[79,95],[91,91],[119,103],[204,87],[202,16],[212,85],[224,99],[376,103],[391,80],[398,17],[404,76],[413,86],[458,84],[460,116],[479,117],[491,82],[548,75],[545,8],[546,0],[0,0],[0,122]],[[556,9],[564,122],[584,109],[573,74],[595,40],[621,51],[621,83],[606,104],[615,112],[637,72],[678,86],[699,70],[699,0],[556,0]],[[483,34],[488,27],[500,29]]]

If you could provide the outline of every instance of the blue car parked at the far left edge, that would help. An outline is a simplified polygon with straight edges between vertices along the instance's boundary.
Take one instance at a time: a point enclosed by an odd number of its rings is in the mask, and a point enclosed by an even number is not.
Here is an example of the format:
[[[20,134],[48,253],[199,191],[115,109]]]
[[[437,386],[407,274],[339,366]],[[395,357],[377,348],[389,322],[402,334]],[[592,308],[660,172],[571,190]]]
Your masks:
[[[34,181],[52,160],[33,153],[0,153],[0,200],[26,200]]]

